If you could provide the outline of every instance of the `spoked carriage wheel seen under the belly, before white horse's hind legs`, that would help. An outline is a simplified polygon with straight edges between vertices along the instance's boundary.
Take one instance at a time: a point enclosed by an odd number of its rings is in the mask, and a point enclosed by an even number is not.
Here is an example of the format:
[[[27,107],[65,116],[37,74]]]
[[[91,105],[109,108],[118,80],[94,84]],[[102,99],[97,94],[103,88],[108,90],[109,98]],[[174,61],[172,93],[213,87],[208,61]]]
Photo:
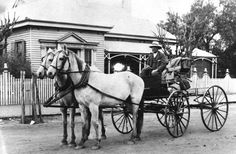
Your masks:
[[[133,130],[133,115],[126,107],[112,108],[111,119],[118,132],[128,134]]]

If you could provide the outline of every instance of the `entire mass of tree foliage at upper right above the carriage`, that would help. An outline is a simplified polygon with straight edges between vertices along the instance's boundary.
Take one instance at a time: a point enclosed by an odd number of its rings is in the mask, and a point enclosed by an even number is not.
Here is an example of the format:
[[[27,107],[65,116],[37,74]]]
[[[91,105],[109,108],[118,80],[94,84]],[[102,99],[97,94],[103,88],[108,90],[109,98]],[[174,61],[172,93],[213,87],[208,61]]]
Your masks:
[[[236,76],[236,1],[220,0],[220,7],[206,0],[196,0],[189,13],[182,17],[167,12],[168,19],[158,26],[178,39],[178,52],[191,55],[194,48],[211,51],[219,56],[218,68],[229,68]],[[222,71],[222,70],[221,70]]]

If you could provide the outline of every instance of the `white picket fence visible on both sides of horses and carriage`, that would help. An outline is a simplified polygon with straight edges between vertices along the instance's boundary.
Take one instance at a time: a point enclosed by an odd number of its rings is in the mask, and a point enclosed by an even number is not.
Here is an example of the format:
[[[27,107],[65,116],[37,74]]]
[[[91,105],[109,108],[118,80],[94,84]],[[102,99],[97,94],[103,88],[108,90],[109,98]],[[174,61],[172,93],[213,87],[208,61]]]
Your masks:
[[[26,105],[31,104],[32,79],[26,79],[24,74],[21,72],[20,78],[15,78],[8,72],[7,68],[4,69],[0,75],[0,106],[20,105],[22,99]],[[203,93],[212,85],[221,86],[226,93],[236,93],[236,79],[231,78],[228,71],[226,71],[225,78],[210,78],[205,69],[203,77],[199,78],[195,69],[190,80],[192,81],[190,83],[191,90],[194,93]],[[37,79],[37,86],[40,103],[43,103],[55,92],[54,80],[52,79]]]

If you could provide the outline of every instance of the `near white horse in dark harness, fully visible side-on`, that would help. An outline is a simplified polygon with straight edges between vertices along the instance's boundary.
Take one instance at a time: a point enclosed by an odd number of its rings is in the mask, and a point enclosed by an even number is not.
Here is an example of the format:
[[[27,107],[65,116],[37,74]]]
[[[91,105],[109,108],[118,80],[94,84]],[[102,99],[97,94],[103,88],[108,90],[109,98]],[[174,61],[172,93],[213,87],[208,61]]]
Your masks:
[[[97,141],[92,147],[93,149],[99,149],[101,141],[99,106],[114,107],[122,103],[131,106],[133,132],[128,143],[133,144],[136,139],[140,139],[143,114],[139,110],[139,106],[143,104],[141,102],[143,102],[144,82],[139,76],[131,72],[104,74],[89,70],[85,62],[77,57],[75,53],[68,50],[61,50],[55,54],[51,66],[48,68],[47,76],[54,78],[57,73],[68,73],[72,79],[76,87],[74,94],[82,109],[83,125],[86,124],[87,119],[86,112],[84,112],[85,107],[89,107],[91,111],[92,124],[96,132]],[[88,134],[82,132],[82,138],[77,145],[77,149],[83,148],[87,139]]]

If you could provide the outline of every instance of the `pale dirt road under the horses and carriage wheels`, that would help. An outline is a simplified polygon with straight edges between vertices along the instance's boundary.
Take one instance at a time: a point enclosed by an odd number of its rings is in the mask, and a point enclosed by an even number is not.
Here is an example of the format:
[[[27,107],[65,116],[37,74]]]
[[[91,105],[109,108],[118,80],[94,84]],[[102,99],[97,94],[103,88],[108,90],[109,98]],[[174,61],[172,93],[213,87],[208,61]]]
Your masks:
[[[230,104],[228,120],[223,129],[218,132],[209,132],[201,121],[199,110],[192,109],[188,130],[180,138],[172,138],[154,114],[146,113],[142,141],[135,145],[126,144],[129,135],[122,135],[115,130],[108,113],[105,114],[105,124],[107,139],[102,141],[100,150],[94,151],[90,149],[94,143],[93,129],[85,149],[74,150],[67,146],[60,146],[62,139],[60,116],[44,117],[44,123],[34,125],[19,124],[18,119],[2,120],[0,121],[0,154],[236,153],[236,104]],[[76,135],[78,141],[81,136],[79,116],[76,116]]]

